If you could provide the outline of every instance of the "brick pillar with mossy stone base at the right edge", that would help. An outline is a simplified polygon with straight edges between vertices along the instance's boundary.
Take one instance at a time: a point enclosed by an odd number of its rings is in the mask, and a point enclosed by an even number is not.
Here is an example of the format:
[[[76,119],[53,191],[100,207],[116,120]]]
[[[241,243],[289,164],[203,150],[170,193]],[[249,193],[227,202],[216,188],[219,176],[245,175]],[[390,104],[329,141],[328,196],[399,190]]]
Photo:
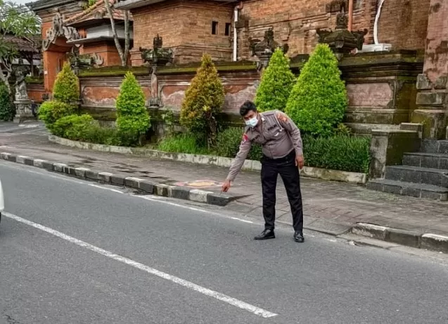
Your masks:
[[[423,124],[423,137],[443,139],[448,120],[448,1],[431,0],[423,73],[417,79],[417,110],[411,121]]]

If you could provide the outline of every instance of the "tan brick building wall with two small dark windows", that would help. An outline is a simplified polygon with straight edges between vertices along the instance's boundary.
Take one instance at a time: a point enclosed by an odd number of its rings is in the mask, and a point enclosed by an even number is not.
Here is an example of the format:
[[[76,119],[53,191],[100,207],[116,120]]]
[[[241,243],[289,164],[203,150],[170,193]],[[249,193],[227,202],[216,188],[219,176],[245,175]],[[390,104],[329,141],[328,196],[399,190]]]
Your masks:
[[[224,35],[231,23],[232,6],[207,0],[164,1],[132,11],[134,18],[134,54],[132,64],[141,64],[139,48],[153,48],[160,35],[164,47],[174,50],[176,63],[198,61],[204,52],[215,59],[231,59],[231,35]],[[212,21],[218,22],[212,35]]]

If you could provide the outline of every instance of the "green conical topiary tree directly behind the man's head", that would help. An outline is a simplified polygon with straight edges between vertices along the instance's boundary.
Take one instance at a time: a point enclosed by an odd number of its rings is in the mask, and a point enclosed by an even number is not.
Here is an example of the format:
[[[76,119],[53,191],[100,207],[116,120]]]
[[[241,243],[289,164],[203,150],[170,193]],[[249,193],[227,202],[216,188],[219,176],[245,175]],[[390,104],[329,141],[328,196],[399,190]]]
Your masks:
[[[269,60],[269,66],[263,72],[255,95],[257,109],[284,111],[294,80],[295,77],[289,68],[289,58],[281,49],[276,49]]]

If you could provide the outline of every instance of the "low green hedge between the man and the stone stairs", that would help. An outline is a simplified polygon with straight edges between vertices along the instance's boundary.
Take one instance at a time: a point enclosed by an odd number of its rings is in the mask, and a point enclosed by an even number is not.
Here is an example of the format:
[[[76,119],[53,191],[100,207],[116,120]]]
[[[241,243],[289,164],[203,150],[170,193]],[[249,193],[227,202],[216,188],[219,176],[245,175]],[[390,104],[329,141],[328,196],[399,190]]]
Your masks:
[[[303,137],[305,166],[369,173],[370,139],[368,137]]]

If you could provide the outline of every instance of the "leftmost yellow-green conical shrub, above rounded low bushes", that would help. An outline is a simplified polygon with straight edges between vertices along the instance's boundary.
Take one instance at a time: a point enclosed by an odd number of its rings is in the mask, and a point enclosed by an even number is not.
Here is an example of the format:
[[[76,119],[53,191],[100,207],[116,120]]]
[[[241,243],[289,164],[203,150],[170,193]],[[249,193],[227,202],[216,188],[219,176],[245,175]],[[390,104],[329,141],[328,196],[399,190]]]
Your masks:
[[[53,86],[53,99],[65,102],[65,104],[77,104],[79,101],[79,80],[73,73],[68,62],[58,73]]]

